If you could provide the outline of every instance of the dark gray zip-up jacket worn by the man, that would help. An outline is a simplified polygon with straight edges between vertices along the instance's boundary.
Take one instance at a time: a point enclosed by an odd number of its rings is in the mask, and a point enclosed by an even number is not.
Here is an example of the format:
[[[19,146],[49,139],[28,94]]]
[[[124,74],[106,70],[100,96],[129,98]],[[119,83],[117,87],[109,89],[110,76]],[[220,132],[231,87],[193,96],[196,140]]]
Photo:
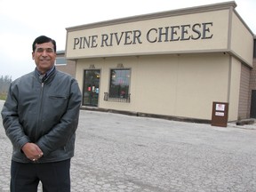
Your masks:
[[[57,69],[44,83],[36,70],[12,82],[1,112],[12,141],[12,160],[31,162],[21,148],[33,142],[44,152],[37,163],[74,156],[81,92],[76,79]]]

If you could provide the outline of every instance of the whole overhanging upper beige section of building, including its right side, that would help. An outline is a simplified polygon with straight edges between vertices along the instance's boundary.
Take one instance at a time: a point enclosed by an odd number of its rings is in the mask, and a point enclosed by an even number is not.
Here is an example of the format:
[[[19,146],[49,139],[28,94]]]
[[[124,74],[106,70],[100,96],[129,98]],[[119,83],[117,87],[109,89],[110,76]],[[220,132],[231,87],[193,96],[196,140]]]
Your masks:
[[[213,4],[67,28],[66,56],[228,52],[252,67],[253,34],[235,8]]]

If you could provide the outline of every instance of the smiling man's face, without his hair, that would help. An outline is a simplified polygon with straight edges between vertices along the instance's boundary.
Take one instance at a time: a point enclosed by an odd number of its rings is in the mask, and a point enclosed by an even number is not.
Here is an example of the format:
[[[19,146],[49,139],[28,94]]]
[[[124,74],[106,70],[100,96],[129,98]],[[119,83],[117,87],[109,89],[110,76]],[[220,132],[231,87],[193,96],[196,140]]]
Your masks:
[[[33,60],[36,62],[36,68],[42,74],[54,66],[56,52],[52,42],[36,44],[35,52],[32,52]]]

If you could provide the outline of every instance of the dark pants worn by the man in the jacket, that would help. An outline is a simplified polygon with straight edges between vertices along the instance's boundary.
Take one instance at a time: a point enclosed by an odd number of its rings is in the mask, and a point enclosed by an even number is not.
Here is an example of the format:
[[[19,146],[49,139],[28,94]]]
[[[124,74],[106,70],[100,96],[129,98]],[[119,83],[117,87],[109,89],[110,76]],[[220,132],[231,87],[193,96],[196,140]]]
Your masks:
[[[70,159],[45,164],[12,161],[11,192],[36,192],[41,180],[44,192],[70,192]]]

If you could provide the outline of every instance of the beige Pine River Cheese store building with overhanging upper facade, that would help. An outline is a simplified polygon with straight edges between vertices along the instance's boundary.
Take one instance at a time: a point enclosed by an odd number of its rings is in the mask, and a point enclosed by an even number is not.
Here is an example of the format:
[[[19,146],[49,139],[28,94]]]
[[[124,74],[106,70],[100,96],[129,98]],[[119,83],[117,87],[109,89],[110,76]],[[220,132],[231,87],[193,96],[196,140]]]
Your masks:
[[[220,102],[236,121],[256,114],[253,38],[227,2],[67,28],[66,59],[84,108],[211,122]]]

